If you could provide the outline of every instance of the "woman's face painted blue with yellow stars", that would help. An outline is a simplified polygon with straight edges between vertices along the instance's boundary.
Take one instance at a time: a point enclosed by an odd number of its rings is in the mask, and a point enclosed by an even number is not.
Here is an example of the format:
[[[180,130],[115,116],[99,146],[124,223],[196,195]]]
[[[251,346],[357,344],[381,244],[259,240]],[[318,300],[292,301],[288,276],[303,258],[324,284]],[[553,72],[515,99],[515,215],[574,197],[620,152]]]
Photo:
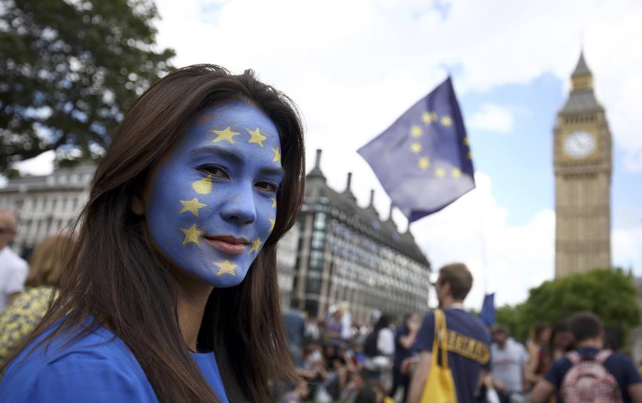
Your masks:
[[[238,285],[274,228],[283,178],[274,123],[241,102],[207,108],[151,178],[158,250],[214,287]]]

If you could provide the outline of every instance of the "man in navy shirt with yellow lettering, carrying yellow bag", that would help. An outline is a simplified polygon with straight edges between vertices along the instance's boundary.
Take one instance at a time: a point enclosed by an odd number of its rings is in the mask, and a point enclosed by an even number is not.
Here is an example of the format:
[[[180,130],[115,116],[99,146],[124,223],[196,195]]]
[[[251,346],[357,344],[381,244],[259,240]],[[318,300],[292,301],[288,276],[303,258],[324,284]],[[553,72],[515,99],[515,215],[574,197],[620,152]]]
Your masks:
[[[464,298],[472,287],[472,275],[463,263],[446,265],[439,270],[435,284],[439,307],[446,316],[448,364],[452,371],[457,402],[474,402],[475,389],[482,368],[489,370],[490,331],[478,317],[464,310]],[[429,377],[434,339],[434,312],[428,312],[419,329],[416,350],[421,352],[412,374],[408,403],[418,403]]]

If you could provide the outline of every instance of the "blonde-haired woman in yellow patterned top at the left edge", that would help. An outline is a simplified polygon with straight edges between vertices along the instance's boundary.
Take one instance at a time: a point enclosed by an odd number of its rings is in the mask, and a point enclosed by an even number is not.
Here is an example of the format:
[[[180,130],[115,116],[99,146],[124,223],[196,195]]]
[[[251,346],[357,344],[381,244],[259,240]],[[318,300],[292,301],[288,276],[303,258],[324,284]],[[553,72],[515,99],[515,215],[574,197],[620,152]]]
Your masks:
[[[61,272],[71,258],[70,243],[70,237],[54,235],[31,255],[25,290],[0,315],[0,364],[34,331],[57,295]]]

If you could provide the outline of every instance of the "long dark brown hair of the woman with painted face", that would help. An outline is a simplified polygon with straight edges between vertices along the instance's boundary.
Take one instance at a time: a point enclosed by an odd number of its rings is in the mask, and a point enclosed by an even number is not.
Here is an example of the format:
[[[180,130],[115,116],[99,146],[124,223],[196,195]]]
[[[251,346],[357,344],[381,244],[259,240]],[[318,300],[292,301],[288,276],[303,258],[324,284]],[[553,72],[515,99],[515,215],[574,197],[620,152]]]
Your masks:
[[[218,399],[185,346],[178,327],[176,282],[153,254],[141,217],[131,211],[131,200],[195,114],[230,100],[252,103],[275,124],[285,178],[270,238],[240,285],[211,293],[198,342],[215,351],[217,359],[219,353],[229,357],[232,373],[227,375],[236,379],[250,402],[272,400],[268,379],[296,379],[280,315],[276,243],[294,225],[302,203],[302,123],[290,98],[249,70],[232,75],[213,65],[180,68],[154,83],[131,106],[98,165],[78,218],[78,245],[71,267],[63,273],[61,295],[35,332],[62,318],[51,338],[93,315],[94,326],[107,326],[126,343],[161,402]],[[225,379],[223,371],[222,375]]]

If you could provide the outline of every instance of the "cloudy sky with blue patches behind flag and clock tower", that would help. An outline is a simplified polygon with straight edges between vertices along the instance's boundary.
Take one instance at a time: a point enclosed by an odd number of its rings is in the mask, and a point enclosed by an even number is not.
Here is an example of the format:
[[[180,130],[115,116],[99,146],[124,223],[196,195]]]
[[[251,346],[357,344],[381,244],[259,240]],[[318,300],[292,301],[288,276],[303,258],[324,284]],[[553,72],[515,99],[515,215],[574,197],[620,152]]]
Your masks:
[[[410,230],[433,267],[462,261],[484,292],[514,304],[554,276],[552,130],[581,49],[613,133],[613,265],[642,276],[641,1],[158,0],[159,46],[175,66],[253,68],[305,118],[307,168],[365,206],[389,198],[357,149],[450,74],[477,188]],[[22,163],[46,171],[51,155]],[[340,161],[340,163],[337,163]],[[399,230],[407,220],[395,210]]]

